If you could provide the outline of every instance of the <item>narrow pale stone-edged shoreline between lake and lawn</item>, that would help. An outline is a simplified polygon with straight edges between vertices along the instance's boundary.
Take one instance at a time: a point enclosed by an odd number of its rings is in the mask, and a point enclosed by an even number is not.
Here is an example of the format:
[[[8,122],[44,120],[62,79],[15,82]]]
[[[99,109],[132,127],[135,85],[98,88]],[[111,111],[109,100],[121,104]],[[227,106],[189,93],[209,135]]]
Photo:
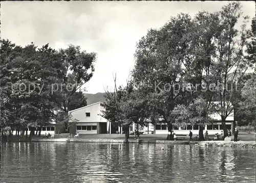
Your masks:
[[[124,139],[32,139],[31,142],[96,142],[96,143],[124,143]],[[255,141],[170,141],[155,139],[129,139],[129,143],[164,143],[164,144],[194,144],[200,146],[250,146],[255,147]]]

